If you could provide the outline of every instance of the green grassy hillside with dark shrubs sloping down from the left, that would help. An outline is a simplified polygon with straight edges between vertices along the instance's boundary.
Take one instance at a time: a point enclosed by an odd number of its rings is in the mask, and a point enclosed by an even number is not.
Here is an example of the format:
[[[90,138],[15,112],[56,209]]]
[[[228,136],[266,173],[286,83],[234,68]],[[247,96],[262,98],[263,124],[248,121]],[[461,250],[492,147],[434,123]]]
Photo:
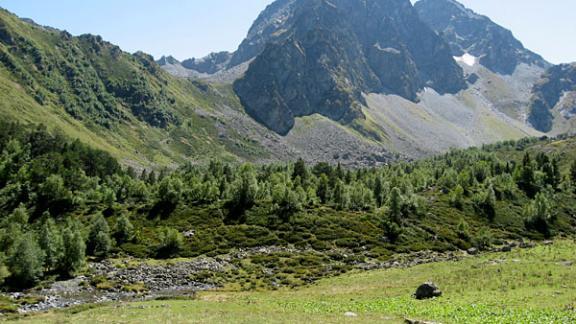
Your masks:
[[[0,10],[3,118],[44,123],[128,164],[265,158],[214,116],[220,106],[238,109],[231,89],[175,79],[146,54]]]

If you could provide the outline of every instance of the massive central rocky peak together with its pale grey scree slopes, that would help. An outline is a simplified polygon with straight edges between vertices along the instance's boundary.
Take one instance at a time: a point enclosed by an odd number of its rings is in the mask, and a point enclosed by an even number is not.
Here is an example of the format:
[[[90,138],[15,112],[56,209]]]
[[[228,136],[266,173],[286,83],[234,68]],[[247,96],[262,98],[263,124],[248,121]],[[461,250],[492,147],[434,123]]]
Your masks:
[[[540,135],[526,116],[542,64],[494,72],[471,54],[456,56],[441,36],[409,1],[278,0],[222,70],[163,68],[233,83],[251,117],[329,159],[356,155],[358,143],[421,157]]]

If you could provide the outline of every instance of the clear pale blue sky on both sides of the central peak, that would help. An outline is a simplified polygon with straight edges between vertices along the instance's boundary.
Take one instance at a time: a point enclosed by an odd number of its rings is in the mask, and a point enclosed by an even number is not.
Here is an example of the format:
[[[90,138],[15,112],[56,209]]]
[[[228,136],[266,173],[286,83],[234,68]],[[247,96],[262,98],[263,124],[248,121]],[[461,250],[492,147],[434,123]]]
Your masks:
[[[99,34],[124,50],[201,57],[234,50],[272,0],[0,0],[21,17]],[[462,0],[553,63],[576,61],[576,0]]]

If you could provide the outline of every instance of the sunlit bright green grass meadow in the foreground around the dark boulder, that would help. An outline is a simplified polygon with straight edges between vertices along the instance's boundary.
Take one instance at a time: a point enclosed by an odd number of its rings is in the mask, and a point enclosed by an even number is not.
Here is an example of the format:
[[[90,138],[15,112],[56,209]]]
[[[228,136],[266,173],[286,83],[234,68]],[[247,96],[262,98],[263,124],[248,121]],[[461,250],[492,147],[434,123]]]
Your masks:
[[[339,323],[404,318],[443,323],[573,323],[576,243],[486,254],[409,269],[354,272],[298,289],[214,291],[196,300],[111,304],[49,312],[26,323]],[[428,280],[444,292],[417,301]],[[346,312],[358,316],[347,318]]]

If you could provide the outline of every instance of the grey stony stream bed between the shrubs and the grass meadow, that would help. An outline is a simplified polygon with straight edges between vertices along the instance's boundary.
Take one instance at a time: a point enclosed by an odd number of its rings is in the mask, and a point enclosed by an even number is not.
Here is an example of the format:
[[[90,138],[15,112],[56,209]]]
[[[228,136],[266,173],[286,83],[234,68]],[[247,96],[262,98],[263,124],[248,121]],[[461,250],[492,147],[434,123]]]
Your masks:
[[[509,242],[491,251],[509,252],[514,248],[534,246],[533,243]],[[9,297],[15,303],[24,299],[34,300],[33,303],[23,303],[19,307],[18,312],[23,314],[82,304],[174,297],[192,298],[198,291],[219,288],[219,285],[211,280],[195,279],[198,278],[198,274],[226,276],[229,271],[237,270],[237,263],[233,262],[234,260],[274,253],[290,253],[297,256],[309,252],[311,251],[287,247],[262,247],[190,260],[146,261],[131,258],[105,260],[90,263],[87,275],[56,281],[45,288],[4,294],[4,297]],[[343,255],[348,252],[338,251]],[[359,270],[406,268],[433,262],[458,261],[476,254],[478,251],[475,249],[449,252],[420,251],[397,254],[386,262],[365,259],[363,262],[353,262],[351,266]],[[272,269],[263,271],[273,272]]]

